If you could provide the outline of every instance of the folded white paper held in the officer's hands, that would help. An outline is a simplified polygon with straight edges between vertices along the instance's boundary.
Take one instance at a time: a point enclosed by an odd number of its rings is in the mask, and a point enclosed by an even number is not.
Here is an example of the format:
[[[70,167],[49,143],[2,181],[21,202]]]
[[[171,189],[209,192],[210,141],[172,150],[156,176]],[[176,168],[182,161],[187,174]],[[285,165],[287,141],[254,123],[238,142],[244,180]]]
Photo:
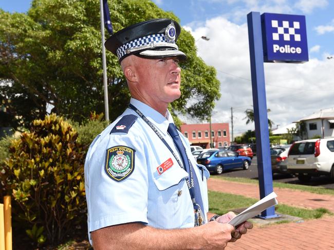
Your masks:
[[[228,223],[233,226],[237,226],[243,223],[244,221],[253,218],[255,215],[258,215],[262,211],[268,209],[268,207],[277,205],[279,202],[277,202],[276,197],[277,195],[275,194],[275,192],[270,193],[263,199],[257,201],[256,203],[248,207],[248,209],[244,210],[243,212],[235,216]]]

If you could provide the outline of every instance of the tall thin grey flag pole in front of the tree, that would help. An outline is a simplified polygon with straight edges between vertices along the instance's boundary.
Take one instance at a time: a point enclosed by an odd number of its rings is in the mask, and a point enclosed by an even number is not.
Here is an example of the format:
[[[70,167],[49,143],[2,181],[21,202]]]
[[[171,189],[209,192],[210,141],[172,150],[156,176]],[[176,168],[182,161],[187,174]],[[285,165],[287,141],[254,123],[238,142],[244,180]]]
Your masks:
[[[108,87],[107,87],[107,63],[104,48],[104,17],[103,17],[103,0],[100,0],[100,17],[101,17],[101,36],[102,36],[102,66],[103,66],[103,90],[104,90],[104,113],[105,120],[109,120],[108,105]]]

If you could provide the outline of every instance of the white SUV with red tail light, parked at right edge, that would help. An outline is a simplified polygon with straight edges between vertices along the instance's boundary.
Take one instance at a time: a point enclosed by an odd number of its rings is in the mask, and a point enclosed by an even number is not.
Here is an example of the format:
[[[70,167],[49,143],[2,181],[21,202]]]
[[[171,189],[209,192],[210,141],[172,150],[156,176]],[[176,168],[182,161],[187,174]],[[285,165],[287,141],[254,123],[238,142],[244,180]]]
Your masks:
[[[287,169],[301,181],[319,175],[334,179],[334,138],[294,142],[288,153]]]

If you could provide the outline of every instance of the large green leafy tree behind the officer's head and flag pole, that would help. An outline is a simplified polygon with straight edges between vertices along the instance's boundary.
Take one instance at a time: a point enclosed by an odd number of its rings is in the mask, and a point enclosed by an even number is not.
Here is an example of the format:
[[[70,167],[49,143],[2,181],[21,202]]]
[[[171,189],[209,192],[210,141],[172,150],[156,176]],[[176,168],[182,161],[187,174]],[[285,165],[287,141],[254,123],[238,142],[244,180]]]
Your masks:
[[[27,14],[0,9],[0,98],[8,106],[2,112],[13,118],[11,126],[18,126],[15,119],[26,126],[43,118],[48,105],[54,106],[53,113],[76,121],[91,111],[104,112],[99,4],[98,0],[33,0]],[[149,0],[114,0],[109,7],[115,32],[152,18],[178,21]],[[178,46],[188,60],[180,66],[182,97],[172,103],[172,113],[205,119],[220,97],[216,71],[197,57],[188,31],[182,29]],[[110,52],[106,56],[113,120],[130,96],[118,59]]]

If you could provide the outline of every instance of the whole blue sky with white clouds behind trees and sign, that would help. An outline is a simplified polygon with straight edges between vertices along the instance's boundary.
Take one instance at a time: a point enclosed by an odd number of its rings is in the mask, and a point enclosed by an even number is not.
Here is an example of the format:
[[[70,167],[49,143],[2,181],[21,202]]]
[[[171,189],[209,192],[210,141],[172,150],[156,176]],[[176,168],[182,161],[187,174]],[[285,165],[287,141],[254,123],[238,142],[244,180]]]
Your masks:
[[[20,3],[21,2],[21,3]],[[217,70],[221,98],[213,122],[230,122],[234,134],[246,126],[245,110],[252,108],[247,14],[300,14],[306,16],[310,60],[304,64],[265,64],[268,117],[276,126],[334,107],[334,2],[329,0],[154,0],[174,12],[196,40],[198,55]],[[15,4],[14,4],[15,3]],[[0,8],[25,12],[30,1],[0,0]],[[200,39],[207,36],[209,41]],[[333,56],[332,59],[327,57]],[[189,121],[189,120],[188,120]]]

